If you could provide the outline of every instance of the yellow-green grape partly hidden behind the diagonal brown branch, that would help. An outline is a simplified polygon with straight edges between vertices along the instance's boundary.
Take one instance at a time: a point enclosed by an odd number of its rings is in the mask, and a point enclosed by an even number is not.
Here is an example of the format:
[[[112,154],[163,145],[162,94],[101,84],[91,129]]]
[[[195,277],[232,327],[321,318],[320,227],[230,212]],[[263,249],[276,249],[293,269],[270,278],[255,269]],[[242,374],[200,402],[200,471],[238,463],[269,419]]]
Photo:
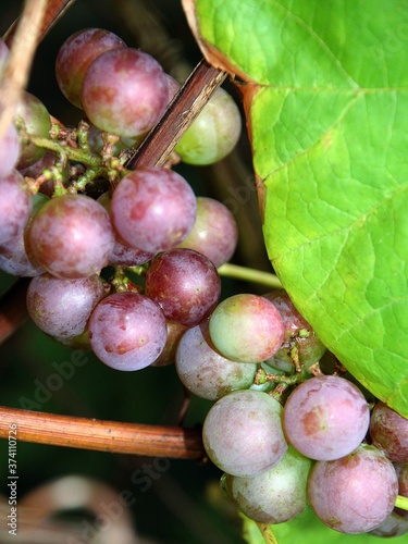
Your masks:
[[[188,164],[213,164],[234,149],[240,129],[238,107],[224,89],[217,89],[178,141],[175,151]]]

